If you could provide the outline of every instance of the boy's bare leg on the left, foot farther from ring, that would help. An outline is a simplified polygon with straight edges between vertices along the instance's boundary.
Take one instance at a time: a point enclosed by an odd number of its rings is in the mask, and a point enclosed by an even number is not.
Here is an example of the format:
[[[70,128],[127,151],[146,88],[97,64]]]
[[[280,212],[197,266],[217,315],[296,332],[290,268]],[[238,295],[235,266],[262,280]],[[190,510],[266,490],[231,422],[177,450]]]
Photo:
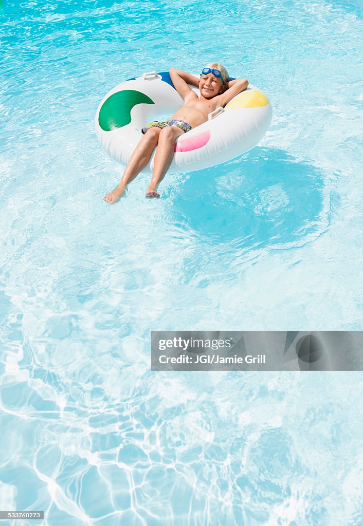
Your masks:
[[[131,183],[140,171],[149,163],[151,154],[155,146],[158,145],[161,128],[150,128],[145,135],[140,139],[138,145],[130,157],[129,163],[125,168],[120,183],[111,192],[104,196],[106,203],[113,205],[122,196],[125,187]]]

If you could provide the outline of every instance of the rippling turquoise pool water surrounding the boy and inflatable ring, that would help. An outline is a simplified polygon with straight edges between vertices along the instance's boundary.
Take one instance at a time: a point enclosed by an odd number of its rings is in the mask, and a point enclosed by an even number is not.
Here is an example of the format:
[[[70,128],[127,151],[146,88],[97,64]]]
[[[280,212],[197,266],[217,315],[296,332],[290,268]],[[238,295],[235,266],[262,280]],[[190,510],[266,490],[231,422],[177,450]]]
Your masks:
[[[150,371],[151,329],[362,329],[361,2],[3,0],[0,17],[0,508],[361,524],[359,372]],[[269,96],[266,137],[107,206],[101,98],[212,60]]]

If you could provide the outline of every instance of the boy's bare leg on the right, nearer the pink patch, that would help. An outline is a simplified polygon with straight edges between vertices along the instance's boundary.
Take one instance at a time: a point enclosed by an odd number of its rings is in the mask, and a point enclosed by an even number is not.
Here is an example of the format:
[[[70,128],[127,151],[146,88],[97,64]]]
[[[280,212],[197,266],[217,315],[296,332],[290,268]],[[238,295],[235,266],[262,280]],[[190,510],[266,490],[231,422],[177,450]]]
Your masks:
[[[163,128],[159,135],[158,149],[155,153],[154,170],[150,185],[146,190],[146,197],[160,197],[156,188],[163,180],[164,175],[168,171],[174,155],[175,140],[184,135],[184,131],[177,126],[168,126]]]

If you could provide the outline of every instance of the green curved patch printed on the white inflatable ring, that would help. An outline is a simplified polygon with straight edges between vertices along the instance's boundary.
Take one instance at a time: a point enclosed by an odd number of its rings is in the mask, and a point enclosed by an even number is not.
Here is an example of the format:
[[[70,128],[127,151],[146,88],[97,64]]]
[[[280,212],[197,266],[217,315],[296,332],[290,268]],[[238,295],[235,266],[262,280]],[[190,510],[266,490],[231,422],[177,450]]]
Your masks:
[[[155,104],[148,95],[135,89],[124,89],[105,100],[99,113],[99,125],[112,131],[131,123],[131,110],[136,104]]]

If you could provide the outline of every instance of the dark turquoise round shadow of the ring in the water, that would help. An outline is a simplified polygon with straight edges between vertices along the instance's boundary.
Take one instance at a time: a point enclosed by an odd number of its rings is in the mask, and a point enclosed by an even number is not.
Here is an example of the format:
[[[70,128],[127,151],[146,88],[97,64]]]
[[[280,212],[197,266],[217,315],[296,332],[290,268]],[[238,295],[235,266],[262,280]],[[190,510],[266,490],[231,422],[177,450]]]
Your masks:
[[[286,151],[254,149],[170,190],[171,220],[207,242],[263,247],[321,229],[323,173]]]

